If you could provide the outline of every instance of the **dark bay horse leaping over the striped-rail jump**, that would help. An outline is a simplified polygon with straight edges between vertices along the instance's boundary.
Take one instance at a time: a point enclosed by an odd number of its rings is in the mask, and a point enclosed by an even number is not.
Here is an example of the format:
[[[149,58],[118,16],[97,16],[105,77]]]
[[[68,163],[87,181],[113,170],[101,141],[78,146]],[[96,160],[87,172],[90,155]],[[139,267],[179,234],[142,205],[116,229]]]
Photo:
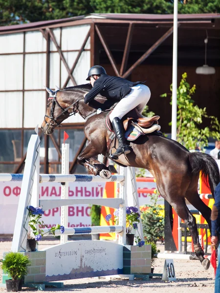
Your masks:
[[[88,138],[88,145],[79,155],[78,161],[97,175],[100,174],[102,168],[97,167],[99,166],[97,163],[100,162],[93,157],[98,154],[109,156],[107,142],[111,132],[105,124],[108,111],[97,114],[96,109],[110,108],[114,102],[110,105],[109,101],[98,95],[96,101],[92,102],[92,107],[91,104],[85,104],[84,94],[90,89],[90,84],[69,87],[56,92],[47,89],[50,92],[50,98],[42,129],[45,134],[51,134],[54,128],[69,115],[79,113],[86,120],[84,132]],[[196,219],[187,208],[185,198],[200,211],[211,228],[211,209],[199,198],[198,178],[201,171],[203,177],[207,178],[214,196],[214,190],[220,182],[220,173],[216,161],[204,153],[191,153],[176,141],[154,133],[140,136],[130,145],[132,146],[132,152],[126,156],[121,155],[116,163],[145,168],[152,173],[156,179],[160,195],[169,202],[189,228],[195,253],[207,270],[210,262],[204,258],[204,252],[198,240]],[[105,175],[105,170],[109,172],[108,168],[105,167],[104,174],[100,175]]]

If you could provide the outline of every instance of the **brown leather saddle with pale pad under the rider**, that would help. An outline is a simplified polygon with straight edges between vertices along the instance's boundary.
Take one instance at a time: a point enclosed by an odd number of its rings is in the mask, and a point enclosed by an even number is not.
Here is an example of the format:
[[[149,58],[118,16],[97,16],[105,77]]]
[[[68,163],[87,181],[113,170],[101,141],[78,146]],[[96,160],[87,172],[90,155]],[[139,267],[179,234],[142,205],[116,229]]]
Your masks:
[[[109,119],[110,113],[106,117],[106,126],[113,132],[112,125]],[[160,116],[140,117],[140,113],[135,109],[130,111],[122,118],[125,129],[125,138],[129,141],[137,139],[140,135],[159,131],[158,119]]]

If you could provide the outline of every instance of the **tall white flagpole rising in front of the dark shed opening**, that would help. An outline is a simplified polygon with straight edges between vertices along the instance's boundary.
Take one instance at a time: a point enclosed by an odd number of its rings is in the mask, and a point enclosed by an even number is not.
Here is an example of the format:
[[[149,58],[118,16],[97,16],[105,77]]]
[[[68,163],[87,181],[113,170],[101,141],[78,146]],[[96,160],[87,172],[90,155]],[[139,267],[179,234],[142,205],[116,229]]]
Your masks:
[[[176,140],[176,89],[177,89],[177,27],[178,0],[174,0],[174,39],[173,39],[173,92],[172,92],[172,132],[171,138]]]

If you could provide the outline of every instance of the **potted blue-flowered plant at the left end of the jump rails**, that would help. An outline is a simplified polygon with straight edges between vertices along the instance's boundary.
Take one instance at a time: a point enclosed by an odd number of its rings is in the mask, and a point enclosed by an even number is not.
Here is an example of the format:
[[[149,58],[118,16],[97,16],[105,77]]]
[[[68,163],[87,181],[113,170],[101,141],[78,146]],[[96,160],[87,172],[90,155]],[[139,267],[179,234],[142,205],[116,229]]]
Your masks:
[[[42,236],[44,236],[46,233],[51,232],[55,236],[55,230],[60,230],[61,233],[64,233],[64,226],[61,226],[57,224],[55,227],[50,228],[47,232],[43,234],[44,228],[47,228],[47,226],[44,224],[44,221],[42,220],[42,215],[44,214],[44,210],[39,208],[34,208],[32,206],[29,206],[29,231],[27,234],[27,241],[29,244],[29,248],[31,251],[36,251],[36,244],[37,241],[42,239]]]

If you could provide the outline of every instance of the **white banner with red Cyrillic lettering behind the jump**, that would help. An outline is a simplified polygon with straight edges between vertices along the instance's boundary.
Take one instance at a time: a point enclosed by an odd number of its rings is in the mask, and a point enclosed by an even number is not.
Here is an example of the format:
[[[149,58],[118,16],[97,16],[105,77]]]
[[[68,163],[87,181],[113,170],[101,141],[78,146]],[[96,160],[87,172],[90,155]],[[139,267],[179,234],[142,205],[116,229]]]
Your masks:
[[[0,182],[0,234],[13,234],[19,195],[22,182]],[[137,182],[137,188],[156,188],[154,182]],[[69,198],[102,198],[105,183],[69,183]],[[60,183],[40,184],[41,199],[55,199],[61,196]],[[147,193],[139,193],[139,205],[150,203]],[[158,201],[161,203],[161,201]],[[91,225],[89,205],[73,205],[68,207],[68,227],[88,227]],[[61,208],[48,209],[43,216],[44,223],[51,228],[60,223]]]

